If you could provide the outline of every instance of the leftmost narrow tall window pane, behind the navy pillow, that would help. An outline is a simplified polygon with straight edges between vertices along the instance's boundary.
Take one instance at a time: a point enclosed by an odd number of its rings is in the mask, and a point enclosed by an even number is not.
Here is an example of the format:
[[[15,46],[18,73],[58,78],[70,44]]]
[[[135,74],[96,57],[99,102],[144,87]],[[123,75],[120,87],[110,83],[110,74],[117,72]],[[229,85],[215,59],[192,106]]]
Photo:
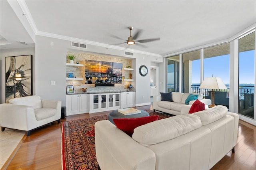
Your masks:
[[[179,55],[167,59],[167,92],[179,92]]]

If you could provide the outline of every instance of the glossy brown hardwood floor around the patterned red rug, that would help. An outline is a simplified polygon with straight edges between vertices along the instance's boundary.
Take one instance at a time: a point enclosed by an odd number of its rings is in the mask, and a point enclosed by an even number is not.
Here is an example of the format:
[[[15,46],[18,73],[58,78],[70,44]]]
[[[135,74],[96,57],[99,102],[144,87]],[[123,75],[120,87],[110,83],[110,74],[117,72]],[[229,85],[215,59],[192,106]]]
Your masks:
[[[137,109],[152,109],[152,105],[136,107]],[[93,114],[71,115],[61,121],[84,119],[108,112]],[[61,123],[57,121],[52,125],[33,130],[26,137],[16,155],[9,165],[4,165],[7,170],[61,170]],[[212,170],[256,170],[256,127],[239,121],[238,143],[235,151],[231,151],[222,158]]]

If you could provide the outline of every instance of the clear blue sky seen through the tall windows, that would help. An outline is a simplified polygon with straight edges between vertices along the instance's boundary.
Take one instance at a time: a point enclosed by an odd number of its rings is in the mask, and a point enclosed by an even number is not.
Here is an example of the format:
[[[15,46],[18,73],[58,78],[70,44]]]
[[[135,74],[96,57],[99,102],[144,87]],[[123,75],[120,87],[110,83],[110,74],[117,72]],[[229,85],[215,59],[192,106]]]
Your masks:
[[[254,84],[254,50],[239,54],[239,83]],[[229,84],[229,55],[204,59],[204,77],[220,77]],[[192,61],[192,83],[200,83],[200,60]]]

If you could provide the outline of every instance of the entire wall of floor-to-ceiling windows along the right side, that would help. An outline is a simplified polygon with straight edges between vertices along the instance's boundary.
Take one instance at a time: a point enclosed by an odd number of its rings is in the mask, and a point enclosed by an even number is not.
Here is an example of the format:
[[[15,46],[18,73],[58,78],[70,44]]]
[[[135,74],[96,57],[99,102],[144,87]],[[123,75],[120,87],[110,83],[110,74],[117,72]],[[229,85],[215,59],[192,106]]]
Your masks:
[[[168,77],[168,83],[172,81],[174,84],[176,80],[177,70],[174,67],[178,61],[182,62],[180,76],[182,76],[181,89],[184,93],[203,93],[206,97],[209,89],[202,91],[198,84],[205,77],[220,77],[226,84],[227,90],[222,90],[223,93],[218,91],[220,96],[215,93],[215,104],[227,106],[230,111],[240,113],[240,119],[256,125],[254,111],[254,99],[256,98],[254,97],[255,28],[251,28],[250,32],[239,34],[244,34],[244,36],[236,35],[230,38],[228,43],[209,45],[198,50],[184,50],[184,52],[168,57],[167,60],[172,60],[167,62],[170,65],[168,74],[173,75]],[[182,57],[179,57],[180,55]],[[174,85],[173,91],[175,91]]]

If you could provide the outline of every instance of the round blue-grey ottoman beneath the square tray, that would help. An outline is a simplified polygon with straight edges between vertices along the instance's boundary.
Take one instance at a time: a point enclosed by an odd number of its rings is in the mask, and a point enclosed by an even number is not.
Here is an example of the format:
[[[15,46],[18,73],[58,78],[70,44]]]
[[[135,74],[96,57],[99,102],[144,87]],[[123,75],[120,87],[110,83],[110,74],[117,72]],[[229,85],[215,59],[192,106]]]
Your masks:
[[[140,109],[138,109],[138,110],[140,110]],[[129,119],[129,118],[138,118],[138,117],[147,117],[147,116],[149,116],[148,112],[146,112],[144,110],[140,110],[140,111],[141,111],[141,113],[126,116],[122,113],[119,113],[118,110],[114,110],[114,111],[109,113],[108,120],[115,125],[113,119],[122,119],[122,118],[126,118],[126,119],[128,118]]]

